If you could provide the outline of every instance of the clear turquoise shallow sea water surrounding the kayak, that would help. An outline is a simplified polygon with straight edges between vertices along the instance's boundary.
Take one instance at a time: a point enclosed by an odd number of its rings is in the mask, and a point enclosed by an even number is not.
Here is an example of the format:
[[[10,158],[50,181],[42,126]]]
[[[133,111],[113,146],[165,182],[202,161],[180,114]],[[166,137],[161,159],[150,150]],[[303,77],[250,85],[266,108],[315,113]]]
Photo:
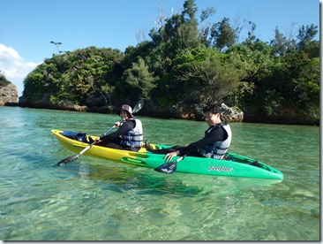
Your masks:
[[[319,127],[232,123],[229,151],[282,181],[162,174],[74,155],[51,129],[100,135],[118,116],[0,107],[0,240],[319,240]],[[140,117],[152,143],[205,122]],[[184,164],[184,161],[181,162]]]

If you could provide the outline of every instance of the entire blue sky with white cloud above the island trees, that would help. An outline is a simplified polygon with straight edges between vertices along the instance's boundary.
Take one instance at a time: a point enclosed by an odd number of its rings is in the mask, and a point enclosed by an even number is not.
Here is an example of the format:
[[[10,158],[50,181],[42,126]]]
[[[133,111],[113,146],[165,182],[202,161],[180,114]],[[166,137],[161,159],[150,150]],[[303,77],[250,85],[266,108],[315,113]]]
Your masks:
[[[124,51],[150,40],[155,20],[182,11],[183,4],[184,0],[1,0],[0,71],[21,95],[26,74],[57,52],[50,42],[62,42],[62,51],[89,46]],[[294,37],[302,25],[319,27],[319,0],[195,0],[195,4],[197,17],[214,7],[208,23],[224,17],[232,25],[252,21],[263,42],[274,39],[275,27]]]

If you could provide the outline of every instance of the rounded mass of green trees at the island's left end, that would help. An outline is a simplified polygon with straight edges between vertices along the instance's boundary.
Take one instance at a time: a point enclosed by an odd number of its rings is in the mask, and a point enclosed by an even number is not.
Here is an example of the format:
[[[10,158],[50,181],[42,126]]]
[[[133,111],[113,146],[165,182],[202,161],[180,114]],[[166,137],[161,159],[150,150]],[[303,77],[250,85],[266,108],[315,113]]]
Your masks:
[[[107,89],[106,80],[115,80],[115,64],[122,58],[119,50],[94,47],[54,55],[27,75],[23,96],[32,101],[86,104],[88,97],[111,90]]]

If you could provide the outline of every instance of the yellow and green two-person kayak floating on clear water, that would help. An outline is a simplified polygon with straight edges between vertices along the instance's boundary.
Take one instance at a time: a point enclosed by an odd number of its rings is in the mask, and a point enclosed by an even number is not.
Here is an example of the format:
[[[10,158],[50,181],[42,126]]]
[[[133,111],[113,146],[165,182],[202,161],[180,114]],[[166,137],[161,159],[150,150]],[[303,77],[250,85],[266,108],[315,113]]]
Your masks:
[[[89,143],[73,137],[76,134],[84,136],[86,133],[71,133],[61,130],[51,130],[64,148],[75,153],[85,149]],[[86,134],[87,135],[87,134]],[[90,135],[91,136],[91,135]],[[92,136],[95,138],[95,136]],[[154,149],[169,148],[168,145],[151,144]],[[154,154],[146,151],[145,145],[139,151],[111,149],[93,145],[84,153],[86,156],[94,156],[108,159],[117,163],[131,164],[147,168],[156,168],[165,163],[164,155]],[[175,156],[174,159],[177,159]],[[283,179],[282,172],[274,169],[268,164],[255,160],[252,157],[242,156],[227,152],[225,159],[214,159],[198,156],[186,156],[177,163],[177,172],[195,173],[215,176],[249,177],[261,179]]]

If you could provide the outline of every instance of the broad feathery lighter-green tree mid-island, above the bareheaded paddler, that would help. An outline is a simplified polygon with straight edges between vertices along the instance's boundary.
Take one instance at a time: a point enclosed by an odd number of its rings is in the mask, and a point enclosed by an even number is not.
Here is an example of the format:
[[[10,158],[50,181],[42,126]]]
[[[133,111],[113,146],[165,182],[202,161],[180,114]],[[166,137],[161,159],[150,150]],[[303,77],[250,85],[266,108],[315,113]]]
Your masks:
[[[174,59],[167,86],[159,84],[157,89],[173,103],[211,103],[237,88],[240,79],[241,73],[224,63],[216,50],[197,48],[185,50]]]

